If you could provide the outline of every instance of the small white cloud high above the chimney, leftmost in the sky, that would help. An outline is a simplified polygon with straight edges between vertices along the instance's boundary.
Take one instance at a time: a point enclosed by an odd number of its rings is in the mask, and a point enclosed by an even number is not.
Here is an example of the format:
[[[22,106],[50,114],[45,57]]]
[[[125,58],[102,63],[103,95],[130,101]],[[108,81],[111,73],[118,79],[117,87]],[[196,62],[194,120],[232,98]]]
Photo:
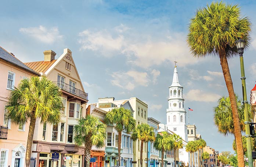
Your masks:
[[[19,31],[44,43],[53,43],[62,39],[58,27],[52,27],[51,29],[47,29],[44,26],[28,27],[21,28]]]

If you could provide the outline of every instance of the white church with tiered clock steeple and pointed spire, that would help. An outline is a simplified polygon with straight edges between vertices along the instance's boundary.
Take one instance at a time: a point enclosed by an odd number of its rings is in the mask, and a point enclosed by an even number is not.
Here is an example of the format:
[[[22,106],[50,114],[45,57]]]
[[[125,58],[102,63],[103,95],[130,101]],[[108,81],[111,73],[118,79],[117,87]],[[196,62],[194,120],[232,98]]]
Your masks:
[[[176,65],[173,72],[172,85],[169,87],[168,109],[166,109],[166,127],[168,130],[178,134],[188,142],[186,125],[186,110],[184,109],[183,87],[179,83]],[[179,160],[185,165],[190,164],[190,155],[185,151],[185,145],[179,149]]]

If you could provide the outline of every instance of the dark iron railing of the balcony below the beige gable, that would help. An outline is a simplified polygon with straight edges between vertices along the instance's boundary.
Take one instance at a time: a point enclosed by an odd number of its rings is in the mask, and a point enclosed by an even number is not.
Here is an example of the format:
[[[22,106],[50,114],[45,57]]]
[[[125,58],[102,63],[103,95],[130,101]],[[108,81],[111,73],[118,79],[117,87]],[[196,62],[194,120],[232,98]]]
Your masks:
[[[80,96],[81,98],[88,100],[88,93],[81,91],[80,89],[77,89],[62,81],[54,81],[53,83],[55,83],[55,85],[61,88],[62,90],[68,91],[74,95]]]

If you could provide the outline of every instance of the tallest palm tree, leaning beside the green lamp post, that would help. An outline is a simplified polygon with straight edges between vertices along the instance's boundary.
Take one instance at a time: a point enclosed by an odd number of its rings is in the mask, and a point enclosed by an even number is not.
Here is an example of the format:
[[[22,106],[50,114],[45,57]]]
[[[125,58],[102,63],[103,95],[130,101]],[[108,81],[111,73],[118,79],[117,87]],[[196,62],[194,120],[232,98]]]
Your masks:
[[[226,5],[222,1],[213,2],[196,10],[195,16],[190,21],[187,35],[187,42],[194,57],[201,58],[213,54],[220,58],[231,101],[234,134],[238,148],[238,165],[241,167],[244,166],[242,135],[227,59],[238,55],[235,41],[239,38],[245,40],[245,48],[248,48],[250,26],[248,18],[241,18],[238,5]]]

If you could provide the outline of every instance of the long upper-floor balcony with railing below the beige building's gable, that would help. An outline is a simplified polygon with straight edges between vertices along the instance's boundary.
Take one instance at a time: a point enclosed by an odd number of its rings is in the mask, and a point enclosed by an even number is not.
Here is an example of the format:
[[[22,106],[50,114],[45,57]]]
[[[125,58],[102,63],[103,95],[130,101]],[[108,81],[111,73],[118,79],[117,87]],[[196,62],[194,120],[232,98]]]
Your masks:
[[[88,102],[88,93],[62,81],[54,81],[53,83],[58,86],[62,92],[68,95],[68,100],[77,98],[81,100],[81,104]]]

